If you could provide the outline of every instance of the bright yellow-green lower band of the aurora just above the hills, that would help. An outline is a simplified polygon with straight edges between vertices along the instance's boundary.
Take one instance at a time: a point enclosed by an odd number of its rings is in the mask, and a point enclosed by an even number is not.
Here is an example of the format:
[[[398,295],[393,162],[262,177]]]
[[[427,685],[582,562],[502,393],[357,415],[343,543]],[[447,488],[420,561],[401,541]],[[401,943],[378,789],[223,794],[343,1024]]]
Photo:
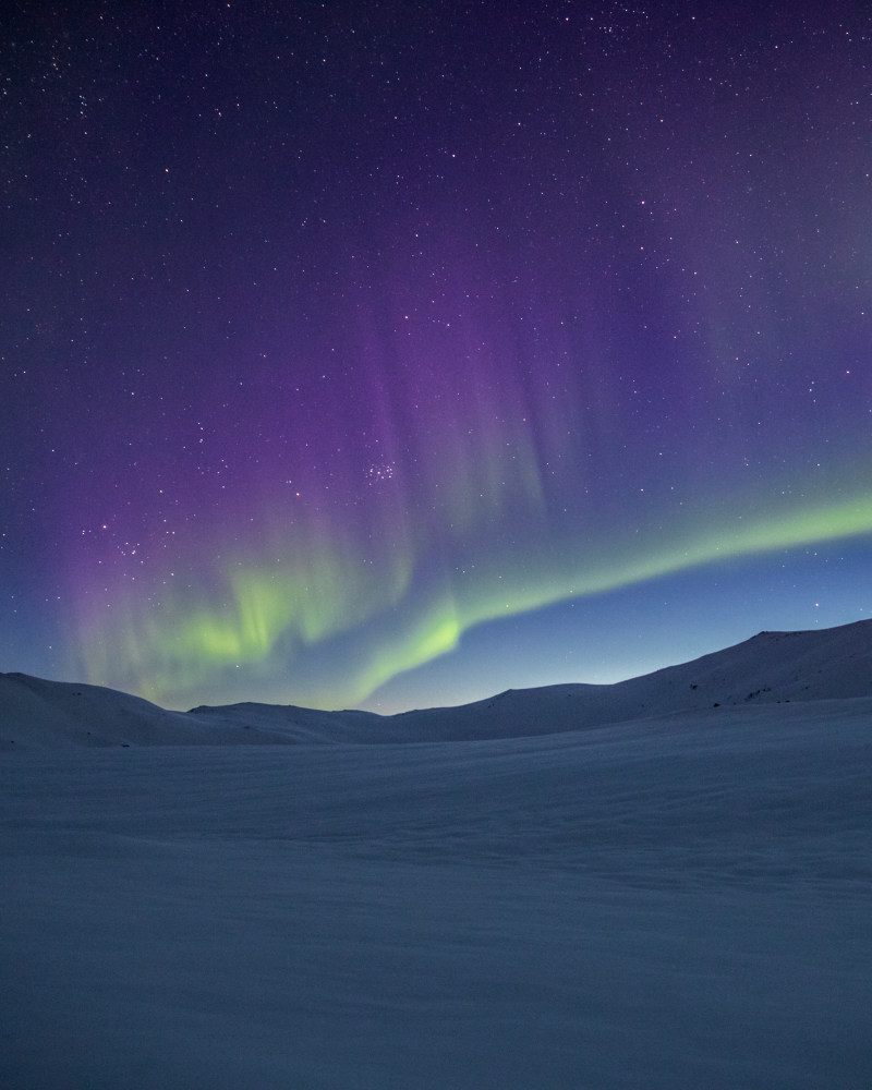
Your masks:
[[[682,570],[872,533],[872,495],[768,518],[736,517],[667,544],[645,534],[645,555],[565,544],[531,571],[511,550],[449,578],[423,578],[410,549],[391,550],[364,574],[351,553],[324,544],[267,566],[235,561],[208,590],[165,589],[159,608],[116,595],[99,623],[80,632],[87,680],[130,688],[169,706],[218,691],[315,707],[359,704],[398,674],[455,649],[476,625]],[[661,533],[662,538],[662,533]],[[526,550],[524,550],[526,552]],[[608,557],[608,559],[604,559]],[[542,561],[540,561],[541,564]],[[314,665],[329,651],[332,669]],[[128,665],[119,678],[118,664]]]

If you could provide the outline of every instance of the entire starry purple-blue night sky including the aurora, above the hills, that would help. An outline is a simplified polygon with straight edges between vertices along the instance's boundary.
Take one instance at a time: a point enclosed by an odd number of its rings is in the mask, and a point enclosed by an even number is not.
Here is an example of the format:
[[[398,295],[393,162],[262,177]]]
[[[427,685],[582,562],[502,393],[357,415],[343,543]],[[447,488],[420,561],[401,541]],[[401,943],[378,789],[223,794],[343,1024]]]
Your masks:
[[[393,712],[872,615],[865,3],[12,3],[0,668]]]

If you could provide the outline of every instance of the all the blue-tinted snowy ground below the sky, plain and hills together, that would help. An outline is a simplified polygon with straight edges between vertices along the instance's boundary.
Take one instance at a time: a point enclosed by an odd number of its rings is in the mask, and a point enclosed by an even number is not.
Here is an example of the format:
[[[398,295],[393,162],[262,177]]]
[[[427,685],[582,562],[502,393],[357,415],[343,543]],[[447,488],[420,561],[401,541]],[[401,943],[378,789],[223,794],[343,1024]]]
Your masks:
[[[0,1086],[872,1086],[872,622],[380,718],[0,675]]]

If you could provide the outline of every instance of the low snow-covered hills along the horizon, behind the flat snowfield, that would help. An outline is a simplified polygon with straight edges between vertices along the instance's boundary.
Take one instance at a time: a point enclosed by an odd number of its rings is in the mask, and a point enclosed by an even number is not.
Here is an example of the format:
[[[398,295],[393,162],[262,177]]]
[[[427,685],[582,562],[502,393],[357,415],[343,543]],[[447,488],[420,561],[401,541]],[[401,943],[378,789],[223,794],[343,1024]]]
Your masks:
[[[872,620],[761,632],[691,663],[608,686],[509,690],[400,715],[233,704],[168,712],[97,686],[0,674],[0,747],[276,744],[510,738],[714,706],[872,697]]]

